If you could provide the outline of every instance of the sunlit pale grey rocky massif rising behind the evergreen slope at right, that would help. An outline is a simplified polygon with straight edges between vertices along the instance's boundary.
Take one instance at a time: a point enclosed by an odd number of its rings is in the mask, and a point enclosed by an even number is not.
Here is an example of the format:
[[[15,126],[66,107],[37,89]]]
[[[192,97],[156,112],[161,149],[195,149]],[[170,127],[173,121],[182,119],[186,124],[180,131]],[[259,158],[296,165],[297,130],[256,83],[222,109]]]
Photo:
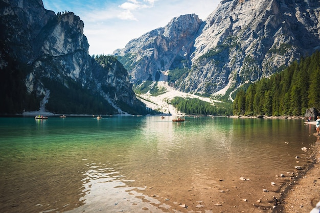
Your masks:
[[[316,0],[224,0],[204,21],[173,18],[113,54],[131,82],[232,100],[243,84],[280,72],[320,45]]]

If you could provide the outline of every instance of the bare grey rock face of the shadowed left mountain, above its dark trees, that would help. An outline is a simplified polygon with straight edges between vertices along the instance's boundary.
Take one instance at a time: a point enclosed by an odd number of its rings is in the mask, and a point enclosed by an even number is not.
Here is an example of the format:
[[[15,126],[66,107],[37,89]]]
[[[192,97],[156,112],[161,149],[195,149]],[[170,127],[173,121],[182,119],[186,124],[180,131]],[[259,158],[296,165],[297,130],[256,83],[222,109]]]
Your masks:
[[[88,54],[84,23],[72,12],[58,13],[43,8],[41,0],[0,0],[0,68],[10,61],[26,64],[24,80],[28,93],[38,97],[48,93],[42,79],[66,80],[100,93],[112,105],[122,102],[140,106],[129,83],[128,73],[119,62],[103,67]],[[108,88],[108,90],[101,88]]]

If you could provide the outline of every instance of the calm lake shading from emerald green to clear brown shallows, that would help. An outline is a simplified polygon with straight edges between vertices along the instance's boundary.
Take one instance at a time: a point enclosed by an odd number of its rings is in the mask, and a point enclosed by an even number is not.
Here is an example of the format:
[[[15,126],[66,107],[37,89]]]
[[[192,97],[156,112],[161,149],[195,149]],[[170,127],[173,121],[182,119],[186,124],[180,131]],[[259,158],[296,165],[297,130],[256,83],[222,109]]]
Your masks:
[[[316,141],[302,120],[173,118],[0,118],[0,212],[272,212]]]

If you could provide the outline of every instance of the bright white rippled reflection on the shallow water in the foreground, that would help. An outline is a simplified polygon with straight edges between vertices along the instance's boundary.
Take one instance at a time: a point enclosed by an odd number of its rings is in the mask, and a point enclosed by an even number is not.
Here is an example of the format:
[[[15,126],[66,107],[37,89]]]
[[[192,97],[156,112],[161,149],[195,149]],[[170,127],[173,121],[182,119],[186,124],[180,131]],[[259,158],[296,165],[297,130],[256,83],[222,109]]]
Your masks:
[[[158,207],[164,207],[164,204],[141,193],[145,187],[129,187],[127,183],[134,180],[126,180],[120,171],[109,165],[108,162],[86,164],[83,197],[80,198],[84,205],[65,212],[163,212]]]

